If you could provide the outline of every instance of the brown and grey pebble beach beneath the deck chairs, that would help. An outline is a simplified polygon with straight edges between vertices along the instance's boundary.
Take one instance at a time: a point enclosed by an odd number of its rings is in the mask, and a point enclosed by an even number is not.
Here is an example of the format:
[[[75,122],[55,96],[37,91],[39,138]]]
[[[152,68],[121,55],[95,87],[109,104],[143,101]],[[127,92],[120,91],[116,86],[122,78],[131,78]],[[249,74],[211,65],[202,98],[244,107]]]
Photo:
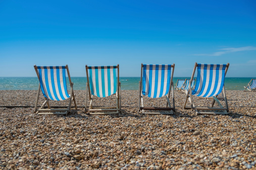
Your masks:
[[[36,94],[0,91],[0,106],[34,106]],[[79,108],[67,116],[0,107],[0,168],[255,169],[256,93],[227,91],[229,115],[200,116],[183,109],[185,94],[177,91],[173,115],[142,115],[138,91],[121,91],[121,114],[90,116],[83,113],[85,91],[75,94]],[[43,99],[40,94],[39,105]],[[164,97],[143,100],[144,106],[166,106]],[[93,100],[95,106],[115,102],[113,96]]]

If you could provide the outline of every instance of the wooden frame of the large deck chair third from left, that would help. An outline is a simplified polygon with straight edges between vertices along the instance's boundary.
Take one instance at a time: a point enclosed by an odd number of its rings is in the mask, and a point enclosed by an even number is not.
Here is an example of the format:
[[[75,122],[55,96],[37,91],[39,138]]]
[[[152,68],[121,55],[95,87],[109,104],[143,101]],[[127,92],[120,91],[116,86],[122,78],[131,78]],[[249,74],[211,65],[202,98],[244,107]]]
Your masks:
[[[139,111],[142,111],[142,114],[148,114],[148,115],[160,115],[160,114],[164,114],[164,115],[172,115],[173,112],[175,112],[175,101],[174,101],[174,85],[173,85],[173,73],[174,73],[174,67],[175,64],[173,63],[173,65],[171,65],[171,67],[173,68],[172,70],[172,75],[171,75],[171,81],[170,81],[170,87],[169,87],[169,93],[168,95],[166,95],[166,108],[159,108],[159,107],[144,107],[143,106],[143,95],[142,95],[142,74],[143,74],[143,64],[141,63],[141,73],[140,73],[140,81],[139,81]],[[173,107],[171,106],[171,102],[170,102],[170,93],[172,91],[172,101],[173,101]],[[169,106],[169,108],[168,108]],[[145,110],[152,110],[152,111],[171,111],[169,113],[167,112],[145,112]]]

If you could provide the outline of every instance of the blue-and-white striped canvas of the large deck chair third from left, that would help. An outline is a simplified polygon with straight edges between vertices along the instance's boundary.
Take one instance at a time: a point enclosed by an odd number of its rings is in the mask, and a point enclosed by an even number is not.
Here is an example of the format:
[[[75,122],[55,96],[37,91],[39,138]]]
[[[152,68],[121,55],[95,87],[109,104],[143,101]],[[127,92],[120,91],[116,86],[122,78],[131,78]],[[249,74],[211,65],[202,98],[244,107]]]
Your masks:
[[[168,94],[171,82],[171,66],[143,64],[142,94],[149,98],[160,98]]]

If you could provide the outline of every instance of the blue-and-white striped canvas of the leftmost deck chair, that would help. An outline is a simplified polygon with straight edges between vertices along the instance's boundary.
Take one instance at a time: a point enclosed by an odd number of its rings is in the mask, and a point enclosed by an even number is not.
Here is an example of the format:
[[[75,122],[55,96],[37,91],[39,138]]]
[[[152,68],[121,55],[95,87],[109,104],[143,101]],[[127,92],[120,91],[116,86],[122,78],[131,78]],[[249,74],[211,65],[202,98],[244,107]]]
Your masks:
[[[66,84],[65,66],[37,66],[42,94],[53,101],[70,98]]]

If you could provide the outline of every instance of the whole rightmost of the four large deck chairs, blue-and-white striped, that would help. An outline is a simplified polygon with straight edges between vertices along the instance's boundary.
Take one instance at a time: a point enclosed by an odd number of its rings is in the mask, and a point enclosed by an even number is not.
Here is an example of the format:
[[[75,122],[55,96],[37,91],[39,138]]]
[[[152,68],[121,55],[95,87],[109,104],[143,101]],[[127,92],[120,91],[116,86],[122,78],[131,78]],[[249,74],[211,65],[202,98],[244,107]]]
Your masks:
[[[194,90],[191,90],[191,80],[189,80],[189,90],[186,91],[186,100],[184,103],[184,109],[192,109],[196,115],[200,114],[228,114],[228,102],[226,98],[226,91],[224,86],[224,79],[227,73],[228,64],[197,64],[195,63],[194,70],[191,79],[194,77],[194,73],[197,67],[196,86]],[[222,98],[218,98],[218,95],[223,92]],[[193,104],[192,96],[211,98],[213,100],[211,107],[195,107]],[[186,107],[187,100],[189,100],[191,107]],[[225,101],[225,107],[223,107],[219,100]],[[215,102],[220,108],[214,108]],[[200,110],[213,110],[222,112],[199,112]]]

